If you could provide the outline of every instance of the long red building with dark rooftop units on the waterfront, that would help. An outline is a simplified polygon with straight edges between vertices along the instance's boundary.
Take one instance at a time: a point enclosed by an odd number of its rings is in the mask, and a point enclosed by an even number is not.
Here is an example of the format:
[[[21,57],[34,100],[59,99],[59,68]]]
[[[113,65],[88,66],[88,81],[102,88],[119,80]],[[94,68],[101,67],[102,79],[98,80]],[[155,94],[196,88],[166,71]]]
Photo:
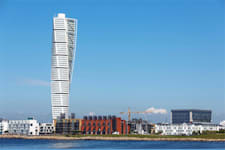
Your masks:
[[[81,122],[82,134],[129,133],[127,122],[116,116],[84,116]]]

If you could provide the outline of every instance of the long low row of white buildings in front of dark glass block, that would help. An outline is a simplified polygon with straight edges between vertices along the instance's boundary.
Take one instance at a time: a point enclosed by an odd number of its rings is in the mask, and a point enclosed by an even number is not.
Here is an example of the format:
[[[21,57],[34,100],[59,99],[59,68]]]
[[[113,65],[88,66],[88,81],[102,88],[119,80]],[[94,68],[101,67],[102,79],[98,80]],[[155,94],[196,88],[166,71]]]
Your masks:
[[[216,124],[156,124],[155,133],[162,135],[192,135],[193,132],[219,131],[225,127]]]

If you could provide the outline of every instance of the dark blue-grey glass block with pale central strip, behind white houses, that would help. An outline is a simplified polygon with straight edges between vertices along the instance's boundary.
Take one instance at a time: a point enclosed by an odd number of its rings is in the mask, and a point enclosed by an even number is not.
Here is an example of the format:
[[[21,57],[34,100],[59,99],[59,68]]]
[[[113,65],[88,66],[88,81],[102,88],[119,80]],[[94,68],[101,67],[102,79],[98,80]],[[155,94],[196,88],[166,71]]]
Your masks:
[[[199,109],[171,110],[172,123],[210,123],[212,111]]]

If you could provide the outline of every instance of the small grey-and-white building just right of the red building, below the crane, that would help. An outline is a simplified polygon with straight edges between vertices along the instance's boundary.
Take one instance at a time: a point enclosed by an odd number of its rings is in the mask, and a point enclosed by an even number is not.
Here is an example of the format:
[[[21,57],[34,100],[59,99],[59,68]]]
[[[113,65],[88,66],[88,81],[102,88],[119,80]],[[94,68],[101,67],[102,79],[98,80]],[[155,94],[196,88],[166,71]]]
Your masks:
[[[131,134],[150,134],[153,127],[152,124],[142,119],[132,119],[129,121]]]

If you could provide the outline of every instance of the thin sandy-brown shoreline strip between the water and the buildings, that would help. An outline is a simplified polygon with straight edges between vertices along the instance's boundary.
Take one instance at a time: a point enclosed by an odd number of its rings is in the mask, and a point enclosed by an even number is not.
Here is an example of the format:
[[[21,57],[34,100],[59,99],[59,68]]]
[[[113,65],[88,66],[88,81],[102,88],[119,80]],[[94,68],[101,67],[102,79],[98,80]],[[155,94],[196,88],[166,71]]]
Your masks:
[[[30,139],[30,140],[106,140],[106,141],[205,141],[205,142],[225,142],[224,139],[206,139],[206,138],[148,138],[148,137],[66,137],[66,136],[24,136],[24,135],[0,135],[0,139]]]

